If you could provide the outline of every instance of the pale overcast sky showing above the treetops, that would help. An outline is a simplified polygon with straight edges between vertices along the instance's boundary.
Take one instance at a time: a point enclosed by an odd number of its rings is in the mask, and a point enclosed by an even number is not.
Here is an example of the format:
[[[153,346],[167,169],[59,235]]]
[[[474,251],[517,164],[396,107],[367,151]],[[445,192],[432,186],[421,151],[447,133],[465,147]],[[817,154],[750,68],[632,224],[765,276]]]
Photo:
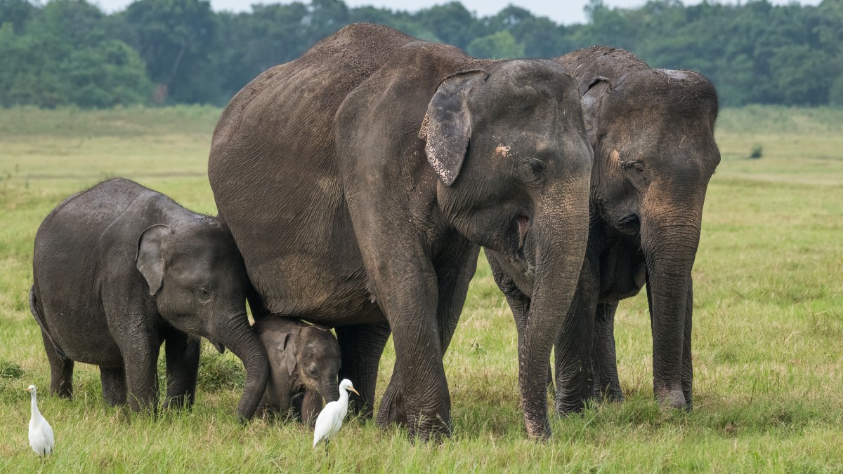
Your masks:
[[[302,0],[309,3],[308,0]],[[91,3],[98,3],[100,8],[106,12],[115,12],[126,8],[126,5],[133,0],[93,0]],[[817,5],[820,0],[799,0],[803,5]],[[233,10],[235,12],[251,11],[253,3],[290,3],[277,1],[241,1],[241,0],[211,0],[214,10]],[[346,0],[349,7],[362,5],[374,5],[375,7],[389,8],[392,10],[416,11],[421,8],[432,7],[433,5],[448,3],[448,0]],[[583,7],[588,0],[462,0],[465,8],[484,17],[493,15],[509,4],[526,8],[536,16],[546,16],[561,24],[585,23]],[[604,0],[609,7],[636,8],[641,7],[646,0]],[[700,3],[699,0],[685,0],[685,5]],[[771,3],[783,5],[791,3],[791,0],[771,0]]]

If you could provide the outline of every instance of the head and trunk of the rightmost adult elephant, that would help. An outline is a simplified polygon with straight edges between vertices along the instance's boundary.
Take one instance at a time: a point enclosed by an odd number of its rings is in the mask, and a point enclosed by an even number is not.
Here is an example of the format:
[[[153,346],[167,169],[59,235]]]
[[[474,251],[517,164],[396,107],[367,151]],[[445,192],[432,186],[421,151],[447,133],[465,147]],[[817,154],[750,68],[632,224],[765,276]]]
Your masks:
[[[645,65],[646,66],[646,65]],[[652,320],[653,389],[690,407],[691,268],[706,188],[720,162],[717,93],[690,71],[640,68],[580,81],[594,150],[593,210],[613,232],[640,242]]]

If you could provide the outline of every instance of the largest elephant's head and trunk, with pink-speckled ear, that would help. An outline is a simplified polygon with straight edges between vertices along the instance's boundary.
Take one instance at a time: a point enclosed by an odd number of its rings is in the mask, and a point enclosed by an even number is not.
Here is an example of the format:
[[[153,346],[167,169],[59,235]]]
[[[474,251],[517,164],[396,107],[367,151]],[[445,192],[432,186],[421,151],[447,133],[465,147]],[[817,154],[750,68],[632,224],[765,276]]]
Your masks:
[[[526,268],[534,288],[519,334],[518,377],[531,436],[550,433],[547,365],[588,236],[592,151],[576,83],[551,61],[505,61],[439,84],[420,136],[443,216],[464,237]],[[521,337],[523,336],[523,337]]]

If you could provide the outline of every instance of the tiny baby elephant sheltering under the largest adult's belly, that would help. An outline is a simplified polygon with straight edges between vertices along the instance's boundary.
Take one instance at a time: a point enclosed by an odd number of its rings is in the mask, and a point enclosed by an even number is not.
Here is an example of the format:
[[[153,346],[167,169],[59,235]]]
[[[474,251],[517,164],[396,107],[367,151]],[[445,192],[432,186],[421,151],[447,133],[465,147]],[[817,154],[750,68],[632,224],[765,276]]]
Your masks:
[[[327,328],[288,317],[255,321],[255,332],[269,356],[269,383],[259,411],[287,413],[297,408],[304,424],[316,421],[322,399],[340,397],[340,344]],[[300,407],[293,396],[303,394]]]

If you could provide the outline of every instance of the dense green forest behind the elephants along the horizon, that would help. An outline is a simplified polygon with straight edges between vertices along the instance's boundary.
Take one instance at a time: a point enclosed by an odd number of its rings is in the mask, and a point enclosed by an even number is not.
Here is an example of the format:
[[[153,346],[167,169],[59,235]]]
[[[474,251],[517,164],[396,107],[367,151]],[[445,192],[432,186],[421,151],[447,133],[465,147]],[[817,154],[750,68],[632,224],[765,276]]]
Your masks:
[[[202,0],[138,0],[106,14],[85,0],[0,0],[0,106],[225,104],[260,72],[360,21],[477,57],[622,47],[652,67],[702,72],[725,105],[843,104],[843,0],[585,9],[588,23],[565,26],[513,6],[477,17],[458,2],[416,13],[341,0],[215,13]]]

